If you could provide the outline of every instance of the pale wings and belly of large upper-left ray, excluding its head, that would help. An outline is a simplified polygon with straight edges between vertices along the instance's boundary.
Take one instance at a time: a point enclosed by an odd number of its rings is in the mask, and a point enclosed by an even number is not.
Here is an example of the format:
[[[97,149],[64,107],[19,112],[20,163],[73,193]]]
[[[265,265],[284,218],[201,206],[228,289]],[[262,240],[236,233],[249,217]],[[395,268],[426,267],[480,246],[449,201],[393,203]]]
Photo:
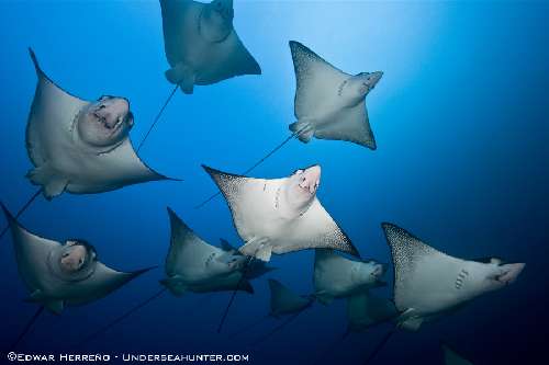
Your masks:
[[[38,84],[26,127],[26,148],[36,169],[27,176],[43,186],[46,197],[52,198],[65,189],[90,194],[168,179],[139,160],[130,138],[104,152],[93,151],[75,140],[74,123],[89,102],[56,85],[30,52]]]

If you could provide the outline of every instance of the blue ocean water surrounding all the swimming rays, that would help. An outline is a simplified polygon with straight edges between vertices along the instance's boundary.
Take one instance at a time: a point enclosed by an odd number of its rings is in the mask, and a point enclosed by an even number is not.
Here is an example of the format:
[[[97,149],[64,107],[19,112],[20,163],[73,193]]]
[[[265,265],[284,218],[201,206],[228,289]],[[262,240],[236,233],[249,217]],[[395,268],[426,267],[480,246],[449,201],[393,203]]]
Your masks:
[[[288,41],[339,68],[384,76],[367,98],[378,150],[343,142],[292,140],[255,170],[284,176],[321,163],[318,196],[362,256],[390,262],[380,223],[410,229],[461,258],[526,262],[519,280],[417,333],[397,333],[377,364],[440,364],[440,341],[474,364],[534,364],[544,358],[548,323],[549,5],[544,2],[236,1],[235,27],[261,65],[192,95],[177,93],[141,151],[155,170],[182,182],[153,182],[97,195],[37,199],[21,223],[44,237],[81,237],[120,270],[163,265],[169,243],[166,207],[215,243],[240,244],[206,163],[239,172],[288,137],[294,122],[294,75]],[[85,99],[130,99],[134,142],[147,130],[171,85],[156,1],[0,2],[2,202],[15,212],[35,187],[24,130],[36,76],[44,70]],[[4,220],[2,218],[2,225]],[[296,292],[312,290],[313,252],[276,256],[270,273]],[[10,343],[35,311],[23,303],[11,238],[0,244],[0,343]],[[161,267],[109,297],[63,316],[44,315],[21,344],[26,352],[71,345],[158,290]],[[268,311],[266,277],[239,294],[224,333],[215,333],[229,293],[170,295],[150,303],[88,353],[247,353],[254,364],[313,362],[345,331],[345,303],[315,305],[256,349],[268,331],[233,337]],[[390,296],[391,285],[380,289]],[[389,327],[338,344],[321,363],[361,363]],[[3,361],[2,354],[2,361]]]

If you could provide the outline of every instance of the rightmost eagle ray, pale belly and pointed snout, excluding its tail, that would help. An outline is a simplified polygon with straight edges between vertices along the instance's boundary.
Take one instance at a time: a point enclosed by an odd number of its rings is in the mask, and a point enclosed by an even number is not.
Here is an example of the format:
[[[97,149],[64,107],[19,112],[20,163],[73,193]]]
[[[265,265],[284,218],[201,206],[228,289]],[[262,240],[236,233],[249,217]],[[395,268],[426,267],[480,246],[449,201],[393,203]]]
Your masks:
[[[406,230],[383,224],[394,263],[394,303],[400,324],[416,330],[424,320],[453,311],[471,299],[513,283],[524,263],[481,263],[439,252]]]

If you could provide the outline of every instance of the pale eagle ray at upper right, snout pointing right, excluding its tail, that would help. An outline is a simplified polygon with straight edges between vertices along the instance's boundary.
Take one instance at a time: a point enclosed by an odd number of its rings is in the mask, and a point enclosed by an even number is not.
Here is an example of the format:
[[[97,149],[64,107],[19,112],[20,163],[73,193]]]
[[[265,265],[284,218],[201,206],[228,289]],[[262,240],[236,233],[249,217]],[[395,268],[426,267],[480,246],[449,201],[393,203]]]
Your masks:
[[[290,130],[307,142],[313,137],[351,141],[376,149],[366,96],[381,71],[346,73],[299,42],[290,42],[295,70],[294,114]]]

